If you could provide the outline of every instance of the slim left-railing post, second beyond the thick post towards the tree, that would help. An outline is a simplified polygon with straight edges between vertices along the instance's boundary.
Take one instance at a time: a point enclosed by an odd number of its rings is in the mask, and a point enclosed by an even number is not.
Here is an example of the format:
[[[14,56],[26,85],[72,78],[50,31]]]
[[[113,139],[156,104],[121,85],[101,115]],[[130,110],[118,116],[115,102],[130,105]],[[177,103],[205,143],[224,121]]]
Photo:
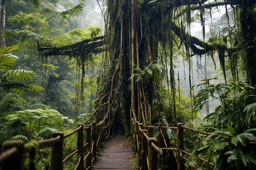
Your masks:
[[[92,148],[92,125],[87,125],[87,127],[85,142],[88,143],[88,145],[86,145],[86,154],[88,154]],[[89,168],[89,170],[92,169],[92,153],[90,153],[86,159],[86,168]]]

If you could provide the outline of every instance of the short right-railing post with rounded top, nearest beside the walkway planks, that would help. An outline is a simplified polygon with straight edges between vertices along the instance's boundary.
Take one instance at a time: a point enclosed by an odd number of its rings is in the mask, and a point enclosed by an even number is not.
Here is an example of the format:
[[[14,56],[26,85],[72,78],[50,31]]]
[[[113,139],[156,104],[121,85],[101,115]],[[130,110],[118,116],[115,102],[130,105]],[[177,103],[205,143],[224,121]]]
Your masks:
[[[151,143],[157,143],[158,139],[148,138],[148,170],[158,169],[158,152],[152,147]]]

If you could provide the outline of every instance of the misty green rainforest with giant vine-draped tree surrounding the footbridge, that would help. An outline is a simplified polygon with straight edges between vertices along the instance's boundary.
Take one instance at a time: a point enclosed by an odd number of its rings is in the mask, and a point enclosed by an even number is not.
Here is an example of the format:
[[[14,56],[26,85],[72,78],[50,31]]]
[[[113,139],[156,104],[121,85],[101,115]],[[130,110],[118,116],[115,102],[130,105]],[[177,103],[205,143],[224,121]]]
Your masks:
[[[255,2],[0,0],[0,143],[93,121],[129,137],[135,116],[210,133],[185,133],[187,169],[255,169]],[[40,150],[38,169],[49,153]],[[174,156],[159,168],[176,167]]]

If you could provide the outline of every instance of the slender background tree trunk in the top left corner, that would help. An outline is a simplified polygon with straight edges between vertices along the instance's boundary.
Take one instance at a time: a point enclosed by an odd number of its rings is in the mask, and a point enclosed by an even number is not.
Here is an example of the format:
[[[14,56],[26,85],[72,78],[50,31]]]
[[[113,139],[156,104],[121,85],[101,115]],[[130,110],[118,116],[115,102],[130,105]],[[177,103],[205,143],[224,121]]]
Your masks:
[[[6,0],[0,0],[0,46],[5,46]]]

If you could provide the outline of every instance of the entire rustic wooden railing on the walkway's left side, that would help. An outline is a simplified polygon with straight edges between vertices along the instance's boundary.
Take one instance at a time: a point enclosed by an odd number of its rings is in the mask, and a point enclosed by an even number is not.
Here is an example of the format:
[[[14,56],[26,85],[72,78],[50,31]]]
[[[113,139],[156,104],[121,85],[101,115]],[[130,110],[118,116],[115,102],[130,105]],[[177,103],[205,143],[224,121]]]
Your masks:
[[[63,141],[65,138],[77,133],[77,150],[73,151],[66,158],[63,159]],[[36,141],[34,145],[28,143],[24,145],[23,141],[5,141],[2,143],[2,152],[0,155],[0,167],[5,170],[21,170],[23,169],[24,154],[29,154],[29,169],[35,169],[35,150],[52,146],[51,149],[51,169],[62,170],[63,163],[65,163],[73,155],[77,154],[77,164],[74,169],[92,169],[92,163],[96,159],[96,154],[105,142],[105,126],[101,122],[84,127],[79,124],[76,130],[71,133],[63,134],[61,131],[52,133],[52,138],[44,141]],[[85,138],[85,140],[84,140]],[[84,155],[85,153],[85,155]],[[84,166],[85,163],[85,166]]]

